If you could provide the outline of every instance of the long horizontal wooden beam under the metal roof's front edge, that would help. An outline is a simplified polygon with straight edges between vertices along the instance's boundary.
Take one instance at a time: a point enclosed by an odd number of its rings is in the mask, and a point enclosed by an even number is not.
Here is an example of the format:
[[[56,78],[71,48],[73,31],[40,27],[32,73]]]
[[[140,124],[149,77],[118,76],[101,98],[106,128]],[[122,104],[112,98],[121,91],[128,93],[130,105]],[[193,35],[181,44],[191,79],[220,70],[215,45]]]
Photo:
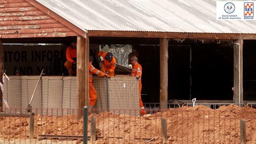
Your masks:
[[[237,33],[178,33],[152,31],[88,31],[89,37],[147,37],[169,39],[256,39],[255,34]]]

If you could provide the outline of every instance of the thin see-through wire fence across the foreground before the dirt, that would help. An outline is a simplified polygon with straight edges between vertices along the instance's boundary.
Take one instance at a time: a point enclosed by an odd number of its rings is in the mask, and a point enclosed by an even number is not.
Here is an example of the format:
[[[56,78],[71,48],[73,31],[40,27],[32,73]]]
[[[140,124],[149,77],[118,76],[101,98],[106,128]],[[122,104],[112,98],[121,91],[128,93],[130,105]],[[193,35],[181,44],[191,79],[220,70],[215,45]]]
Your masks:
[[[139,109],[89,109],[85,121],[77,119],[77,109],[24,111],[11,108],[0,113],[1,144],[82,144],[83,135],[88,144],[256,143],[256,110],[239,104],[158,109],[144,116],[134,116]]]

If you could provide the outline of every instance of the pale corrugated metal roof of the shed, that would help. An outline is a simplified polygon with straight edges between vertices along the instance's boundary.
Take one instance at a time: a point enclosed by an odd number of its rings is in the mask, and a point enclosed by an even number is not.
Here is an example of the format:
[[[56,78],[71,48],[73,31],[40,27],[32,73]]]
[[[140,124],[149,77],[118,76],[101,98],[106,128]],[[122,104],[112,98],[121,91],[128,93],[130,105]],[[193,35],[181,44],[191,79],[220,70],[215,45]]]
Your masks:
[[[36,0],[82,30],[256,33],[256,20],[216,20],[216,0]]]

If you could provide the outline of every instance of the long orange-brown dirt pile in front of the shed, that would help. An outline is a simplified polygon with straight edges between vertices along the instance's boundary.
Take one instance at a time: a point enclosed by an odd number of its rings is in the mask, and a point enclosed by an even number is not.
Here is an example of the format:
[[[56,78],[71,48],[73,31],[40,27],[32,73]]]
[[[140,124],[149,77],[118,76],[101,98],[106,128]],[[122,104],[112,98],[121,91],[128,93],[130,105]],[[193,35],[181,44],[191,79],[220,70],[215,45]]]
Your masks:
[[[91,114],[96,118],[96,136],[103,137],[96,144],[144,144],[158,137],[150,144],[161,143],[161,118],[167,122],[167,144],[226,144],[240,143],[240,119],[246,121],[247,143],[255,144],[256,110],[236,105],[221,106],[213,110],[209,107],[181,107],[168,109],[145,117],[104,112]],[[29,118],[0,118],[0,138],[28,138]],[[45,135],[82,135],[83,120],[75,115],[35,117],[35,136]],[[109,138],[121,137],[121,138]]]

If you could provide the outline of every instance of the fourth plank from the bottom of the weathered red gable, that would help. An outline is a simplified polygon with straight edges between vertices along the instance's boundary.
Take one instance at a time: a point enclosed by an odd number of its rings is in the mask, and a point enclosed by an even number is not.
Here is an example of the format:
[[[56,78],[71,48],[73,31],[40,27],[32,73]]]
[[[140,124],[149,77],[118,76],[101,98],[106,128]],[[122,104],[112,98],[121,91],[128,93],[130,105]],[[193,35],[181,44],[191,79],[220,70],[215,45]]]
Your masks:
[[[27,24],[54,24],[58,23],[55,19],[42,19],[42,20],[10,20],[10,21],[2,21],[0,26],[2,25],[27,25]],[[64,25],[62,25],[64,27]]]

